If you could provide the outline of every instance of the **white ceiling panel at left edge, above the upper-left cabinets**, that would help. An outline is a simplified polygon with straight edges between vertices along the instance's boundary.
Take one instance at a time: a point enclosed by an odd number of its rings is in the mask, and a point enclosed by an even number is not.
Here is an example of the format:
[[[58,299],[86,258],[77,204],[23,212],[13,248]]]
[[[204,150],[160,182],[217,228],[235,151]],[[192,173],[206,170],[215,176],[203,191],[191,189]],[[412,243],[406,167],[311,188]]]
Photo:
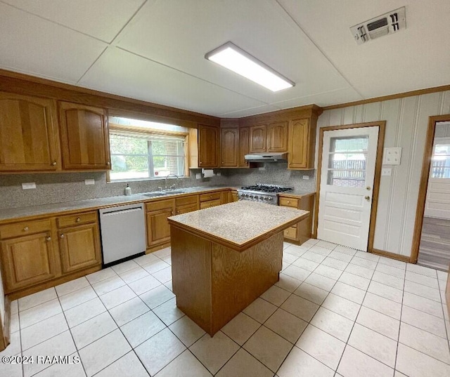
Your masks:
[[[103,42],[0,3],[0,66],[74,84]]]

